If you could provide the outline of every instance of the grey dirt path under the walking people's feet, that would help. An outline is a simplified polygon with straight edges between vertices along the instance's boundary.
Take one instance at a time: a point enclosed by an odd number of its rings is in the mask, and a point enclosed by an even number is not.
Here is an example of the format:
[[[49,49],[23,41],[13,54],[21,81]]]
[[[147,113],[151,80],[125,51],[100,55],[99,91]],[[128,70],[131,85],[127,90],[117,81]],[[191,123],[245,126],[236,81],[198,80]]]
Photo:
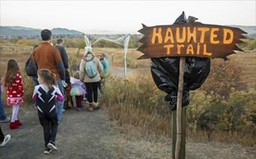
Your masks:
[[[11,112],[7,111],[10,116]],[[43,154],[43,128],[38,121],[37,109],[33,106],[21,108],[19,116],[22,126],[18,129],[10,130],[8,123],[1,124],[4,134],[11,134],[12,139],[0,148],[0,158],[114,158],[102,144],[103,139],[113,136],[114,132],[105,124],[100,110],[66,110],[56,137],[59,152],[49,155]]]

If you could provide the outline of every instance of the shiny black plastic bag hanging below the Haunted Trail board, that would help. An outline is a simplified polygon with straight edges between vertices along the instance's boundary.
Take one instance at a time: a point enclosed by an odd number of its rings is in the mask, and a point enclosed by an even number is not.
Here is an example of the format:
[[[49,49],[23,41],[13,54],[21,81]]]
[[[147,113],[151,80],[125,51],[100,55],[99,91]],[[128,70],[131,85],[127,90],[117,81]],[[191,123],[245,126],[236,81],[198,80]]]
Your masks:
[[[179,85],[179,57],[151,59],[151,74],[155,85],[168,93],[165,100],[170,101],[171,110],[176,110],[176,96]],[[189,104],[189,90],[196,90],[210,73],[210,58],[186,57],[184,70],[184,91],[182,106]]]

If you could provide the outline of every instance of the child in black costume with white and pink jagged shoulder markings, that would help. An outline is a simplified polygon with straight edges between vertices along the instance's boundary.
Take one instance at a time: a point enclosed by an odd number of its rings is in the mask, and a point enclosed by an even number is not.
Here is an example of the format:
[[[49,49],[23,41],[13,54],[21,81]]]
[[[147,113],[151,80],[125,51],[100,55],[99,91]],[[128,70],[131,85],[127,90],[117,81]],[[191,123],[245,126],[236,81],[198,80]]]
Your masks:
[[[56,134],[58,132],[58,118],[55,108],[56,100],[64,100],[59,87],[55,85],[55,74],[48,69],[38,71],[39,85],[35,86],[33,100],[38,105],[38,119],[43,126],[43,136],[45,142],[45,154],[51,150],[57,151],[55,145]]]

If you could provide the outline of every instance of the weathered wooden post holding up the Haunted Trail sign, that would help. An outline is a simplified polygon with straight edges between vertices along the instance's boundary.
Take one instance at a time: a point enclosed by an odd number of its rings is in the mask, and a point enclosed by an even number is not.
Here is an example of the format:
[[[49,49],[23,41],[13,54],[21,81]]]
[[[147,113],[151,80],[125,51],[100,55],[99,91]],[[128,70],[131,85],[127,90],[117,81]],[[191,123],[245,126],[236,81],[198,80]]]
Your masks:
[[[186,145],[186,108],[182,108],[182,95],[184,88],[184,69],[186,57],[179,60],[179,85],[177,95],[176,111],[173,111],[173,141],[172,141],[172,158],[185,158]],[[175,145],[175,146],[174,146]]]

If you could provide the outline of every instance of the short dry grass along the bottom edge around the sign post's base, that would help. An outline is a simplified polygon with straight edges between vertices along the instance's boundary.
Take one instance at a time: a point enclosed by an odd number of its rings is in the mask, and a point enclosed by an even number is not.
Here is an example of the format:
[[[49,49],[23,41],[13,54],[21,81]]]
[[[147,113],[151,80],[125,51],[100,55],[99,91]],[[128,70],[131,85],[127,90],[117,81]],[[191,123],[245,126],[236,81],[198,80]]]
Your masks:
[[[127,139],[119,134],[102,140],[108,150],[115,151],[116,158],[171,158],[170,139],[145,139],[137,136]],[[256,147],[244,147],[219,142],[187,142],[186,158],[189,159],[254,159]]]

